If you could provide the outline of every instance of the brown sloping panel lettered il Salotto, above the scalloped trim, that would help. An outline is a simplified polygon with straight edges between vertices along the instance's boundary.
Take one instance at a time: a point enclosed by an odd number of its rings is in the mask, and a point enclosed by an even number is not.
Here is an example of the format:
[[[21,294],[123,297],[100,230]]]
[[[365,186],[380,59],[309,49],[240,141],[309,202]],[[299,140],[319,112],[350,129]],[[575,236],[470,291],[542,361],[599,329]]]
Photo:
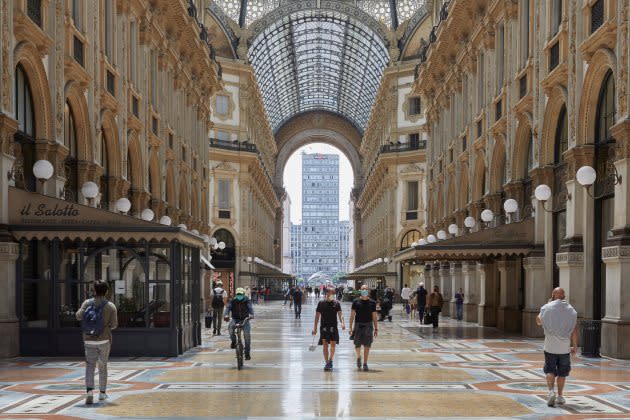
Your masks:
[[[138,225],[143,222],[56,197],[9,188],[10,224],[121,226]]]

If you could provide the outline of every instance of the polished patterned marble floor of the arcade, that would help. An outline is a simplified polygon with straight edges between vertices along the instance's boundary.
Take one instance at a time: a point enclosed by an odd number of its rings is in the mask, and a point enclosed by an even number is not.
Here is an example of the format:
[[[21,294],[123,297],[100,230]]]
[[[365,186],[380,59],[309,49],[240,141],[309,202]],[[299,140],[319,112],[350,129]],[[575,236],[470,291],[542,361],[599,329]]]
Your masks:
[[[110,398],[92,406],[81,359],[0,360],[0,419],[630,418],[626,361],[574,358],[567,404],[549,408],[540,340],[448,319],[433,331],[400,307],[380,325],[369,372],[356,370],[347,331],[324,372],[321,347],[309,351],[314,307],[295,320],[279,302],[255,306],[252,360],[241,371],[228,337],[208,331],[177,358],[112,359]]]

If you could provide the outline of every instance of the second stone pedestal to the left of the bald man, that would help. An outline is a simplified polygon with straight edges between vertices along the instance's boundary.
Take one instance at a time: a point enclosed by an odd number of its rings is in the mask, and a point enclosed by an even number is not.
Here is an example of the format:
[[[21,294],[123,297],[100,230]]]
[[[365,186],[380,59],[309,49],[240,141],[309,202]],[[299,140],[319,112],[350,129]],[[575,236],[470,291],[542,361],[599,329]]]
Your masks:
[[[505,332],[520,332],[522,326],[521,311],[518,308],[520,261],[501,260],[497,265],[499,268],[497,327]]]

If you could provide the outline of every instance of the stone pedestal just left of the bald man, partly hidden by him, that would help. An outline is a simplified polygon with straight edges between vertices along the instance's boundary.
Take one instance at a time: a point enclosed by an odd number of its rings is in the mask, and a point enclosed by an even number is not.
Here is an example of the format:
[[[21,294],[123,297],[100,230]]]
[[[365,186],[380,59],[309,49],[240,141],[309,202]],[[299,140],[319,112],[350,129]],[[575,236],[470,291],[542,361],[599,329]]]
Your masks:
[[[543,337],[543,329],[536,324],[536,317],[540,307],[545,304],[547,288],[543,287],[540,279],[545,276],[545,257],[527,257],[523,260],[525,268],[525,309],[523,309],[523,335],[525,337]]]

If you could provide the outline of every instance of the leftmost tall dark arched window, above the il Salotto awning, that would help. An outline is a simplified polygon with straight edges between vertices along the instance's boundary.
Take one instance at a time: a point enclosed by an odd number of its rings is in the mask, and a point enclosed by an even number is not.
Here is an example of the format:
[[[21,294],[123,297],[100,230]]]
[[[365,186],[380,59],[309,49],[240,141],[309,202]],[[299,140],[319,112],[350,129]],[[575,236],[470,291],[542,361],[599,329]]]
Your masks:
[[[18,129],[15,141],[20,143],[21,163],[16,162],[16,168],[21,169],[21,175],[16,176],[15,185],[35,191],[35,110],[31,86],[24,68],[18,64],[15,68],[15,96],[13,97],[15,118]]]

